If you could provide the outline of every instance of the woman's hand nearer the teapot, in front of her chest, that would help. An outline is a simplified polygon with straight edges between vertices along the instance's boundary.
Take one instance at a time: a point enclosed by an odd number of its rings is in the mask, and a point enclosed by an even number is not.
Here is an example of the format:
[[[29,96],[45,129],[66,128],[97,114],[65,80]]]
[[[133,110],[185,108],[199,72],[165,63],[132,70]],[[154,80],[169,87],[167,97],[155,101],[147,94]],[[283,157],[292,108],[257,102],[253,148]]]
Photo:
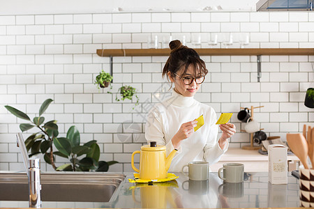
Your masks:
[[[174,148],[179,148],[179,144],[182,140],[187,139],[190,137],[191,134],[194,132],[194,127],[196,126],[197,121],[189,121],[186,123],[183,123],[177,134],[174,134],[174,137],[172,138],[172,144]]]

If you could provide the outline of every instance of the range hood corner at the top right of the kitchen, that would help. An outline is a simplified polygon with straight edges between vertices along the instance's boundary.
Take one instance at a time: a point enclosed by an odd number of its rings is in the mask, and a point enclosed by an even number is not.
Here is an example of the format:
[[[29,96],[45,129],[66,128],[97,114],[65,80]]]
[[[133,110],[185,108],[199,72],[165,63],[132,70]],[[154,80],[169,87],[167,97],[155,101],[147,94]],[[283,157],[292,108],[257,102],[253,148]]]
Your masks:
[[[257,11],[312,11],[314,0],[260,0]]]

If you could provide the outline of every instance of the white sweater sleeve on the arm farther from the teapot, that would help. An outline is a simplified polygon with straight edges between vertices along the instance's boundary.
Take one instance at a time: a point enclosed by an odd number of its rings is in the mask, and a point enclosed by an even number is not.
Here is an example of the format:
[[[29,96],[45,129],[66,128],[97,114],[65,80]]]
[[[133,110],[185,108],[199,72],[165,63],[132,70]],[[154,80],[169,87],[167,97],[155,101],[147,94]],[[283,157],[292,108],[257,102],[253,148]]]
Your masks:
[[[207,144],[204,146],[204,160],[209,162],[209,164],[215,164],[220,160],[220,157],[227,151],[229,142],[225,144],[223,149],[220,148],[218,144],[217,134],[218,134],[218,125],[216,125],[216,113],[213,110],[211,112],[211,127],[209,130]]]

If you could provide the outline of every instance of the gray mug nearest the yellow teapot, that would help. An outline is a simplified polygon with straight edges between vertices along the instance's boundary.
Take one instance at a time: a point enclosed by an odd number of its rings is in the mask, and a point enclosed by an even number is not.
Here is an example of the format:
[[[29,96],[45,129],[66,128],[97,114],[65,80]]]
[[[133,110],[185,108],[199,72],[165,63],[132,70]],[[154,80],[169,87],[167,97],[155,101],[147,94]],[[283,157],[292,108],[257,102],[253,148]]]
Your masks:
[[[184,172],[185,167],[188,167],[188,174]],[[209,178],[209,162],[189,162],[182,168],[182,173],[190,180],[207,180]]]

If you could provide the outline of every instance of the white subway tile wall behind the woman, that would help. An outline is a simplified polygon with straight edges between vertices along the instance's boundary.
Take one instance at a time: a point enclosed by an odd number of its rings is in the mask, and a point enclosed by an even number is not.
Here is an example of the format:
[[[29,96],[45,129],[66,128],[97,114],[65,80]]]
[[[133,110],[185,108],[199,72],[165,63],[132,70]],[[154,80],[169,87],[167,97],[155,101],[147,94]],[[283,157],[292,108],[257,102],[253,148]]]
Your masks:
[[[61,15],[2,15],[0,17],[0,170],[22,170],[15,146],[15,134],[24,123],[10,114],[11,105],[36,116],[47,98],[54,102],[45,112],[46,121],[57,120],[65,135],[71,125],[81,133],[81,141],[97,140],[100,160],[117,160],[110,171],[131,171],[130,155],[146,143],[146,114],[156,102],[170,96],[170,84],[161,77],[167,56],[124,56],[113,58],[112,89],[98,89],[95,77],[110,70],[110,59],[96,49],[147,48],[148,36],[161,41],[177,38],[191,44],[200,33],[207,45],[211,33],[222,37],[248,33],[245,47],[314,47],[314,15],[307,12],[163,12],[104,13]],[[164,45],[164,47],[167,47]],[[215,48],[225,46],[218,42]],[[230,147],[249,144],[237,120],[240,107],[255,109],[255,119],[268,136],[301,132],[303,124],[312,125],[314,113],[304,106],[305,91],[313,85],[314,56],[262,56],[262,78],[257,82],[256,56],[202,56],[209,75],[196,100],[220,112],[234,113],[231,121],[237,134]],[[122,85],[137,88],[136,100],[116,101]],[[314,86],[311,86],[314,87]],[[107,93],[110,90],[112,94]],[[184,122],[184,121],[182,121]],[[26,138],[35,130],[24,133]],[[43,159],[42,159],[43,160]],[[57,157],[58,164],[67,162]],[[138,156],[135,162],[139,162]],[[43,170],[51,171],[42,163]],[[138,164],[137,164],[138,167]]]

